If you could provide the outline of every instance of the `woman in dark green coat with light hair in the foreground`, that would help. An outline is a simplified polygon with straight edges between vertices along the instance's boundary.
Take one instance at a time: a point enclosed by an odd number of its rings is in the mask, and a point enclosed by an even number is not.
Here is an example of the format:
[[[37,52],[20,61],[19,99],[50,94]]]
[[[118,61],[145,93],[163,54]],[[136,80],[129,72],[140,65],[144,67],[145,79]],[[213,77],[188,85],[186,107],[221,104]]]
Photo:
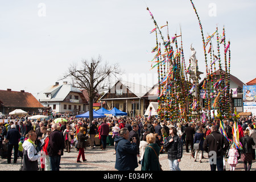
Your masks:
[[[150,133],[146,137],[148,146],[145,148],[141,170],[160,171],[159,154],[160,147],[155,142],[155,135]]]

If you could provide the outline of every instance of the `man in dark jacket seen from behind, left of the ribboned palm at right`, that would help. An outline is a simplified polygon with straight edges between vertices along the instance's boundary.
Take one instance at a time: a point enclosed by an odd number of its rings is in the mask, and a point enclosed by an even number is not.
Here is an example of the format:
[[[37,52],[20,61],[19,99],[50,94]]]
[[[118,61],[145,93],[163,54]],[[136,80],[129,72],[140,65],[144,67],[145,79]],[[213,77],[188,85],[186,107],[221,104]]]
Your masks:
[[[217,127],[210,127],[212,133],[204,140],[203,148],[208,152],[210,170],[223,171],[223,155],[229,147],[228,140],[220,133],[217,133]]]

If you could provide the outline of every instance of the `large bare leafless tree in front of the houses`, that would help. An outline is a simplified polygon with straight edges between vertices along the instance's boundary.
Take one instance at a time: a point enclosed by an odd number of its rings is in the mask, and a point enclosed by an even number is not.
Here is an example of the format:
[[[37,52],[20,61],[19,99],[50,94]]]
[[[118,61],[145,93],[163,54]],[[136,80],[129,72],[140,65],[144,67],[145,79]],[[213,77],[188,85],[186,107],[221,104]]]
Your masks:
[[[108,87],[112,77],[121,75],[118,64],[109,65],[107,62],[102,64],[101,56],[97,59],[92,58],[90,61],[82,60],[82,65],[76,63],[68,68],[68,73],[65,78],[72,79],[72,85],[85,89],[89,96],[89,121],[93,121],[93,100],[101,88]],[[61,80],[63,80],[61,79]]]

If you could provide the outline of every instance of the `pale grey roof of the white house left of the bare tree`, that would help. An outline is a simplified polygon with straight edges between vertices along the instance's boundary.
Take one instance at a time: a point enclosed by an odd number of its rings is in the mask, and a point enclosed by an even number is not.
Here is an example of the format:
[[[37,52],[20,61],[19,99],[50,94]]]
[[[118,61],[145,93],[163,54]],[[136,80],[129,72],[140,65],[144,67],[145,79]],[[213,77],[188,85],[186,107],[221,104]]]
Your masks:
[[[36,99],[39,102],[54,102],[54,101],[63,101],[70,92],[82,93],[79,89],[75,88],[71,84],[63,84],[63,85],[51,85],[48,88],[44,89],[40,92]],[[51,94],[51,97],[47,97],[47,94]]]

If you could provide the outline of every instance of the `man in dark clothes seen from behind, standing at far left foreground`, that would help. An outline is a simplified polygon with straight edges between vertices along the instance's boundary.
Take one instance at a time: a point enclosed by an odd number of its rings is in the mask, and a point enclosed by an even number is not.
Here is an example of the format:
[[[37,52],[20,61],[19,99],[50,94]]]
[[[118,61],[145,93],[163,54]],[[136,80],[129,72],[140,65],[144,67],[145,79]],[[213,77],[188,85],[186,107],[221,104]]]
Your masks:
[[[7,163],[11,163],[11,152],[14,148],[14,163],[17,162],[18,159],[18,147],[19,147],[19,139],[21,135],[19,131],[16,129],[15,125],[11,125],[11,129],[7,131],[5,142],[8,143],[8,155],[7,155]]]

